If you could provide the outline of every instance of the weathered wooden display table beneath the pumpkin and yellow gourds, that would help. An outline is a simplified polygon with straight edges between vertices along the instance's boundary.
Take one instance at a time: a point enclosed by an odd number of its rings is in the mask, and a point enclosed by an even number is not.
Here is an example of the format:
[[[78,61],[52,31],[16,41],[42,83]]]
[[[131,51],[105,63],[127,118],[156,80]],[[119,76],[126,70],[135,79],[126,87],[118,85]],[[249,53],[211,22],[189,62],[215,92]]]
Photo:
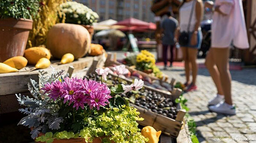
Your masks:
[[[79,73],[74,74],[74,76],[83,77],[85,74],[83,74],[81,70],[86,67],[90,67],[93,64],[93,60],[103,61],[104,66],[105,60],[102,60],[106,58],[104,56],[105,54],[97,57],[79,58],[72,63],[67,63],[63,65],[58,65],[57,63],[59,63],[59,61],[52,61],[51,67],[43,70],[48,72],[49,74],[52,73],[53,69],[55,71],[65,70],[67,72],[67,70],[71,66],[74,68],[73,72]],[[95,67],[98,65],[102,66],[102,62],[98,62]],[[30,82],[30,79],[39,82],[38,70],[26,72],[21,69],[20,71],[22,72],[0,74],[0,114],[16,112],[20,108],[20,106],[18,105],[15,94],[20,93],[22,95],[29,96],[30,93],[28,91],[27,84]]]

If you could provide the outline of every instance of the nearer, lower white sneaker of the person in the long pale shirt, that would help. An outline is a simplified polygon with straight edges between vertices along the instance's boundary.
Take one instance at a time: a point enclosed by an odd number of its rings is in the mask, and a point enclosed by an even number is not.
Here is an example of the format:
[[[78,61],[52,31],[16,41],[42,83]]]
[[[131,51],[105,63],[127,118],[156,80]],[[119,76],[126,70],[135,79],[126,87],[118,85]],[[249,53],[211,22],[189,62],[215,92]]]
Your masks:
[[[225,102],[218,103],[214,106],[209,106],[209,110],[216,113],[228,114],[228,115],[235,115],[236,114],[236,107],[233,105],[229,105]]]

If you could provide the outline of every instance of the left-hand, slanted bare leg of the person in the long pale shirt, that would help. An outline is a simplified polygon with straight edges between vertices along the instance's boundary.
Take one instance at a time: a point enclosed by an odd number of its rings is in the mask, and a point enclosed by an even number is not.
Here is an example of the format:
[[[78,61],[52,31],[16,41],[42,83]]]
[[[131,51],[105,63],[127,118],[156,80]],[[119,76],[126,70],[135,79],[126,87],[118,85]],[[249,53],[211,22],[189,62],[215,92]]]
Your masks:
[[[224,92],[223,92],[223,89],[221,86],[221,76],[220,76],[217,66],[215,65],[214,58],[213,58],[212,54],[213,54],[212,48],[210,48],[204,64],[207,67],[207,69],[212,77],[213,82],[215,83],[215,86],[218,90],[218,94],[224,95]]]

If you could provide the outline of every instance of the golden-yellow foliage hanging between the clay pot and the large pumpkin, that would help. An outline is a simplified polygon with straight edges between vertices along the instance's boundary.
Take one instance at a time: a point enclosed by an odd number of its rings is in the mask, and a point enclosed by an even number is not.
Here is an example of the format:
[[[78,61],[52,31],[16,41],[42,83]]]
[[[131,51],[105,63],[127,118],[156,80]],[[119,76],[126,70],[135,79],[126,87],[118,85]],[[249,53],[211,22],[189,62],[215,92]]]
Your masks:
[[[33,19],[33,29],[29,33],[27,47],[45,45],[49,29],[58,23],[61,3],[69,0],[41,0],[38,15]],[[63,19],[64,22],[65,19]]]

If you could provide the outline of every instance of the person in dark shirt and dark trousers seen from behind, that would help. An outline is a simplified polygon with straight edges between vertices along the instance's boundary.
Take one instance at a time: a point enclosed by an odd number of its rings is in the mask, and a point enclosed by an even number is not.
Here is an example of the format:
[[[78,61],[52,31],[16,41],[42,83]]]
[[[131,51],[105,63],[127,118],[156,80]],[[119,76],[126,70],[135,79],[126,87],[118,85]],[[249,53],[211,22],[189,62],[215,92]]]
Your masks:
[[[164,70],[167,69],[167,51],[168,46],[171,49],[171,64],[173,63],[173,48],[175,44],[175,31],[178,26],[178,21],[172,17],[171,12],[167,12],[167,17],[161,23],[161,31],[162,31],[162,45],[163,45],[163,61],[164,61]]]

